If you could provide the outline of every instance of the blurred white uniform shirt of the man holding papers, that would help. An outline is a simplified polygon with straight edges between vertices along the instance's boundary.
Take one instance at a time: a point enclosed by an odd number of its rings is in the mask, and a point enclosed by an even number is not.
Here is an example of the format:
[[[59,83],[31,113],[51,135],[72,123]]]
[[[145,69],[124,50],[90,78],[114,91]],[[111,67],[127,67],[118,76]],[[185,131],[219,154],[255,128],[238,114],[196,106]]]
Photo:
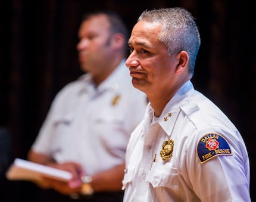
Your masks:
[[[96,89],[85,74],[57,94],[33,150],[60,163],[80,163],[87,175],[113,168],[124,162],[130,134],[146,105],[146,95],[132,86],[124,61]]]

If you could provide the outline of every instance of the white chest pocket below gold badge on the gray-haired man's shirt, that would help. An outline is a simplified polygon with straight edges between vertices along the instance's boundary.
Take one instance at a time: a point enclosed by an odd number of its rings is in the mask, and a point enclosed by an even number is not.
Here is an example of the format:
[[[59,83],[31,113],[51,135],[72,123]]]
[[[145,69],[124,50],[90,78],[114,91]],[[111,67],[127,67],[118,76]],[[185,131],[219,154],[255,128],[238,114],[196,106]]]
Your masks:
[[[154,188],[168,187],[177,190],[179,185],[179,175],[176,168],[153,162],[151,170],[146,177],[146,181],[150,182]]]

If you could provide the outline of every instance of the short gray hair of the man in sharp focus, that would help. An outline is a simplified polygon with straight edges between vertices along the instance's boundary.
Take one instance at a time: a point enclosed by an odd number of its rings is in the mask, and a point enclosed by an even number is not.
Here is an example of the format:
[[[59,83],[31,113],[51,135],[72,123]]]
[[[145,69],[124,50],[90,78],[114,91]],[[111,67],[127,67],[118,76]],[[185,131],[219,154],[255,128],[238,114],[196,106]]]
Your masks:
[[[193,75],[201,39],[195,18],[189,11],[180,7],[146,10],[138,21],[161,24],[159,40],[166,44],[170,55],[182,50],[188,52],[189,71]]]

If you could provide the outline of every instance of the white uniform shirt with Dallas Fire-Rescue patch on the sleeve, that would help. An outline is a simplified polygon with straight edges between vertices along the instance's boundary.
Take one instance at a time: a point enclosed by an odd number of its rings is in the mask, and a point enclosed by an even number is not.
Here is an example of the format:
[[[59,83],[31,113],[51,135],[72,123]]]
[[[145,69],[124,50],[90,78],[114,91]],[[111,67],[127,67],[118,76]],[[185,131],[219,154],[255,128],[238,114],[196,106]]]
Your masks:
[[[153,114],[149,103],[127,146],[124,202],[250,201],[245,143],[191,81],[155,122]],[[173,140],[167,160],[160,154],[165,140]]]

